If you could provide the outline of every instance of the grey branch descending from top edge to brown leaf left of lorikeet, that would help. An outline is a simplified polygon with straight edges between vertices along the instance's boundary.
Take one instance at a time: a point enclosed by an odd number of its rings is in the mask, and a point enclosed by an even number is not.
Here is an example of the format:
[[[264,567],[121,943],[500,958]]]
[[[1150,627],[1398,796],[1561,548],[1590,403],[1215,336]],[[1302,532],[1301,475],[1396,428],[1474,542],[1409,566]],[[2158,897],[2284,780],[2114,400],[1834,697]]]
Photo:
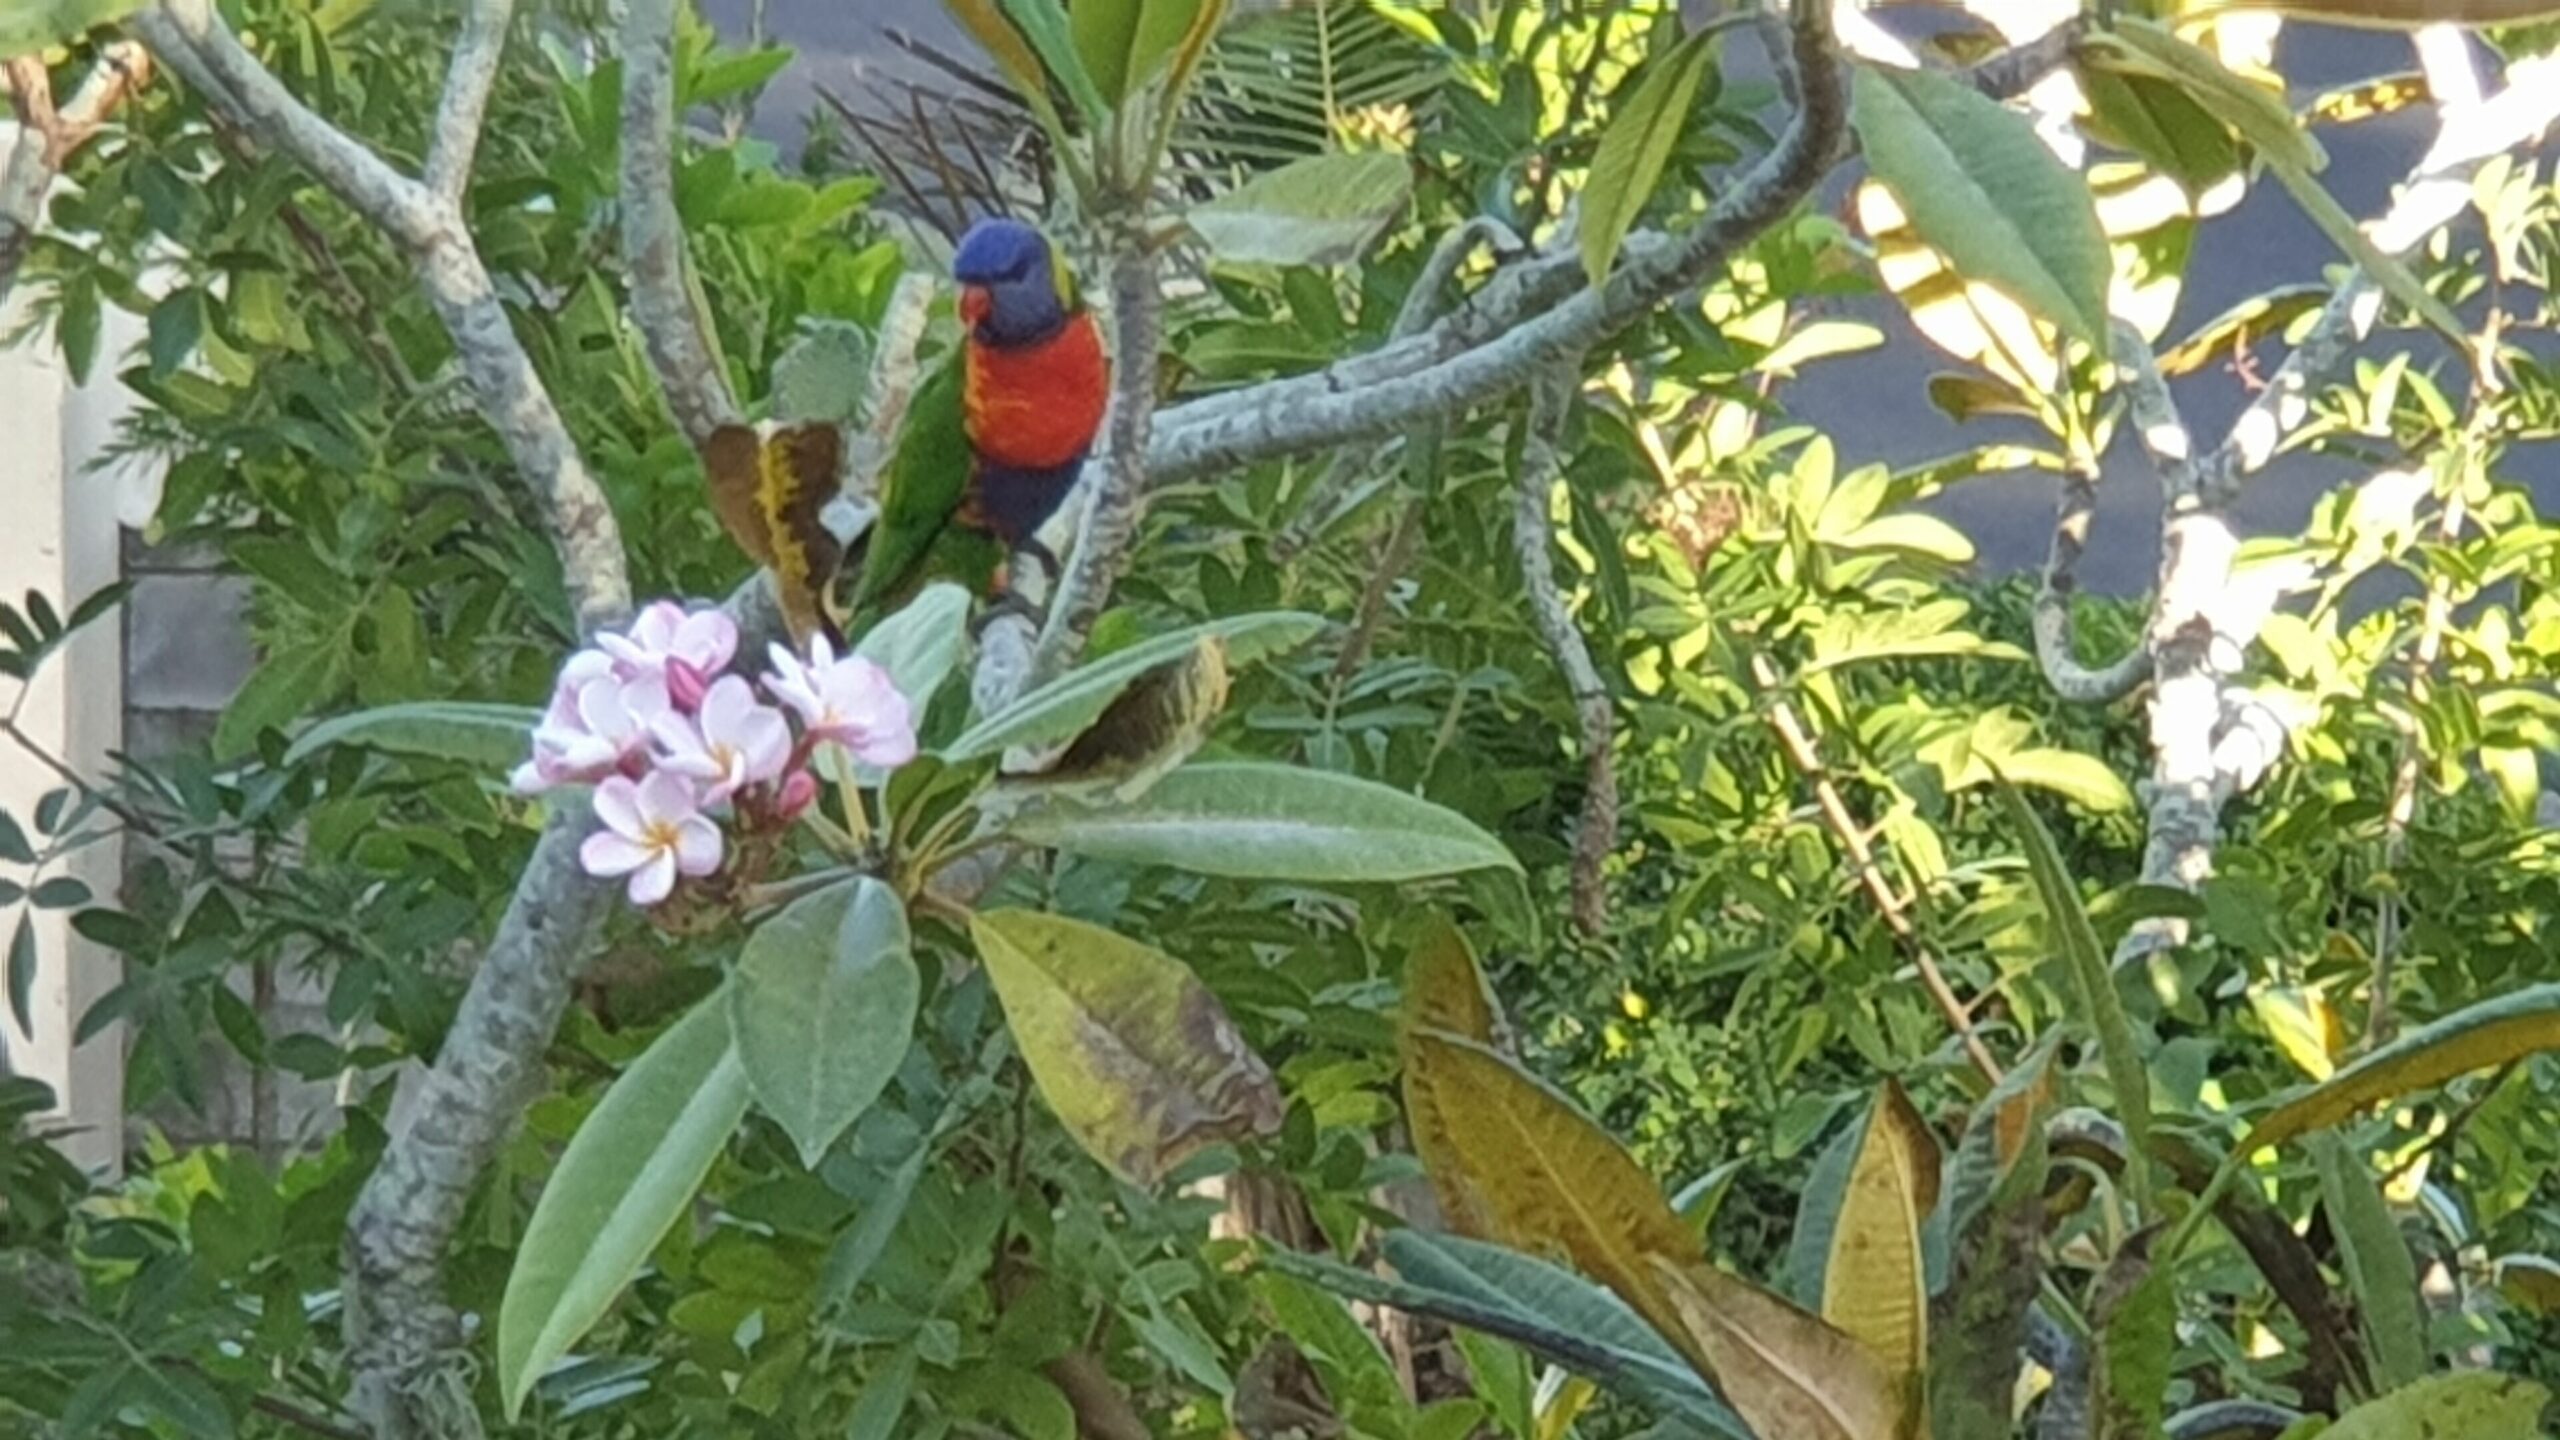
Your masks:
[[[622,10],[622,269],[632,323],[684,438],[701,446],[737,423],[712,341],[686,284],[676,218],[676,0]]]

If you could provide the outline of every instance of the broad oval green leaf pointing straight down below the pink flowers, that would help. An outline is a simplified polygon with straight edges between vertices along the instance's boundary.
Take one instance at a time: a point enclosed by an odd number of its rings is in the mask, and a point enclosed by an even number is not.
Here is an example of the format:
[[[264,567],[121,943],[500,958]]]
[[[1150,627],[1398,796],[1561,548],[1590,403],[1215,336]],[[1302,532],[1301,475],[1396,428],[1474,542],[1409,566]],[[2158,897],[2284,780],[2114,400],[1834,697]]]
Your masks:
[[[916,1025],[906,907],[870,876],[804,894],[748,935],[730,1040],[748,1092],[817,1168],[906,1058]]]

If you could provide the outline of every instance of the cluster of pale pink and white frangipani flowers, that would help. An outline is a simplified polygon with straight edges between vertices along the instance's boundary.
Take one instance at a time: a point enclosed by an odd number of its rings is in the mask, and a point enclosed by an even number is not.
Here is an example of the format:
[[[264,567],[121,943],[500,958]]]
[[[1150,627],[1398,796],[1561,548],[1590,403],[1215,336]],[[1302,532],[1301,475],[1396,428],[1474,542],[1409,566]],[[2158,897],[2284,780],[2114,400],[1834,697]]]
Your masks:
[[[632,904],[658,904],[678,879],[717,874],[727,830],[781,830],[817,799],[819,746],[891,769],[914,758],[914,707],[888,671],[837,656],[771,648],[758,679],[727,674],[737,623],[660,600],[620,635],[568,656],[532,730],[520,794],[591,784],[602,830],[579,861],[622,876]]]

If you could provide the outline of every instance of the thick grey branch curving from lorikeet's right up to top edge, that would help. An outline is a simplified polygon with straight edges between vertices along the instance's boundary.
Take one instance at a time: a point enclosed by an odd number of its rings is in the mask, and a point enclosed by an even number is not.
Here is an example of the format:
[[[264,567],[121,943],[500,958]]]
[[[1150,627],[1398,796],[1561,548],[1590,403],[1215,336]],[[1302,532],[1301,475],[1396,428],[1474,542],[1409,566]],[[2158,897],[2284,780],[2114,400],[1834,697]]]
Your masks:
[[[1687,233],[1633,236],[1603,287],[1582,287],[1580,256],[1513,266],[1477,302],[1413,341],[1167,410],[1147,454],[1155,482],[1375,441],[1423,418],[1454,415],[1528,384],[1715,272],[1812,192],[1841,154],[1848,108],[1830,8],[1797,5],[1789,33],[1802,105],[1777,149]]]

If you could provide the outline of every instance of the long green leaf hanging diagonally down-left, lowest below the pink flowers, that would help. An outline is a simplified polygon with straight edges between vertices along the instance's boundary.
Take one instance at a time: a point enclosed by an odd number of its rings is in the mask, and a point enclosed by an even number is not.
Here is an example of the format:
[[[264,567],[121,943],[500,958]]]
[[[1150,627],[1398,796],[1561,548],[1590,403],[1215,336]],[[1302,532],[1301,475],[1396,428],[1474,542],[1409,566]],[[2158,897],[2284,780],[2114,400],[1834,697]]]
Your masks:
[[[509,1420],[640,1273],[745,1115],[724,994],[686,1012],[604,1092],[550,1171],[507,1276],[497,1373]]]

